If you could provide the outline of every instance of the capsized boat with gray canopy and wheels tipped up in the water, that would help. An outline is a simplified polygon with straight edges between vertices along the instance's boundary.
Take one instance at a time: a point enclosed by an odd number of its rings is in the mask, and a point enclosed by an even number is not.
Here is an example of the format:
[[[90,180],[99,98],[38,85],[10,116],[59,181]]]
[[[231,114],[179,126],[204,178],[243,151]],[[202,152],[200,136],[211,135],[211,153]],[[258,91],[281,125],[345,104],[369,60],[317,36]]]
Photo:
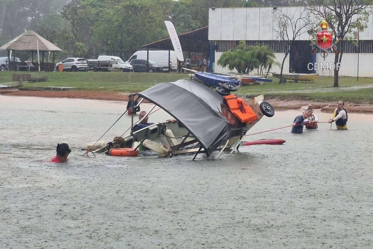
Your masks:
[[[136,93],[134,96],[141,98],[139,104],[148,100],[154,104],[152,110],[156,106],[162,108],[177,122],[158,122],[140,130],[134,125],[131,134],[107,143],[96,152],[109,152],[112,147],[137,149],[141,144],[160,156],[185,153],[210,156],[220,150],[219,156],[228,148],[232,153],[251,127],[263,116],[271,117],[275,113],[272,106],[263,101],[263,95],[255,97],[252,105],[247,106],[244,100],[231,94],[235,90],[237,87],[232,83],[214,91],[194,80],[183,79]]]

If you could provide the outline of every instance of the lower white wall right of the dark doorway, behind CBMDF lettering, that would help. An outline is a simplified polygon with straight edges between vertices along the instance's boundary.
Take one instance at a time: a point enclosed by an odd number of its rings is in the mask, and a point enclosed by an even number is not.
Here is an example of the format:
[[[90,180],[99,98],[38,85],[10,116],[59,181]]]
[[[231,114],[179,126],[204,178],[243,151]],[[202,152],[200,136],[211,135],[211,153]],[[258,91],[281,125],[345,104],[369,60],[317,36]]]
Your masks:
[[[359,54],[359,77],[373,77],[372,60],[373,54]],[[330,54],[325,61],[317,55],[316,62],[323,63],[324,66],[330,66],[328,63],[334,63],[334,55]],[[316,73],[334,75],[334,71],[328,69],[324,71],[316,70]],[[342,55],[339,76],[357,76],[357,54],[344,53]]]

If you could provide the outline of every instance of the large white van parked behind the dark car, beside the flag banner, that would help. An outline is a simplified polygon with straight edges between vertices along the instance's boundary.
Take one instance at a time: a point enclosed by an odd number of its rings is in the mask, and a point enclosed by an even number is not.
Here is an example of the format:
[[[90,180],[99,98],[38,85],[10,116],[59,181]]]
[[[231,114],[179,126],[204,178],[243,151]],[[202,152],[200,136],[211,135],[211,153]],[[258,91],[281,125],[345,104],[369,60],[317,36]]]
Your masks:
[[[147,52],[147,50],[137,51],[125,63],[129,64],[134,59],[146,60]],[[153,60],[156,64],[162,66],[163,71],[168,71],[168,50],[149,50],[149,60]],[[171,69],[176,71],[178,69],[178,59],[175,51],[170,51],[170,62]]]

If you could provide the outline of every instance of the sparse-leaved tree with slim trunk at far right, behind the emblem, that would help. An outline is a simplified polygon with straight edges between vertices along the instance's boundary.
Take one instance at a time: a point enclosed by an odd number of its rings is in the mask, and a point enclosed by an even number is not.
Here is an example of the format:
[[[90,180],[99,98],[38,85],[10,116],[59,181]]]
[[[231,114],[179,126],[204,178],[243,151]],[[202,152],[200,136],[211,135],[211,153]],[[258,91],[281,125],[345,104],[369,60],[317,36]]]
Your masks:
[[[372,13],[372,0],[310,0],[307,9],[315,17],[325,18],[329,28],[336,32],[339,39],[338,53],[334,56],[334,84],[338,87],[339,67],[344,53],[345,40],[356,40],[356,30],[363,31],[367,27],[369,15]]]

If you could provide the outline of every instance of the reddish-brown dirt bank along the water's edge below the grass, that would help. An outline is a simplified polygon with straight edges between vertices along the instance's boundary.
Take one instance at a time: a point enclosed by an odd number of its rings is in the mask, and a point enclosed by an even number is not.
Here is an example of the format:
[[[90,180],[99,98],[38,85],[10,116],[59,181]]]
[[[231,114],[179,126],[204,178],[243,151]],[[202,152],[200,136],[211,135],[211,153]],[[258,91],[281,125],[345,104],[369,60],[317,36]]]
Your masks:
[[[33,96],[33,97],[57,97],[57,98],[72,98],[72,99],[94,99],[94,100],[112,100],[123,101],[128,100],[127,94],[105,93],[99,91],[0,91],[1,95],[7,96]],[[336,108],[334,102],[313,102],[310,100],[278,100],[269,99],[269,102],[276,110],[301,110],[307,107],[320,109],[322,112],[333,112]],[[251,103],[250,99],[247,99]],[[373,113],[373,105],[369,104],[354,104],[345,103],[345,108],[350,113]]]

